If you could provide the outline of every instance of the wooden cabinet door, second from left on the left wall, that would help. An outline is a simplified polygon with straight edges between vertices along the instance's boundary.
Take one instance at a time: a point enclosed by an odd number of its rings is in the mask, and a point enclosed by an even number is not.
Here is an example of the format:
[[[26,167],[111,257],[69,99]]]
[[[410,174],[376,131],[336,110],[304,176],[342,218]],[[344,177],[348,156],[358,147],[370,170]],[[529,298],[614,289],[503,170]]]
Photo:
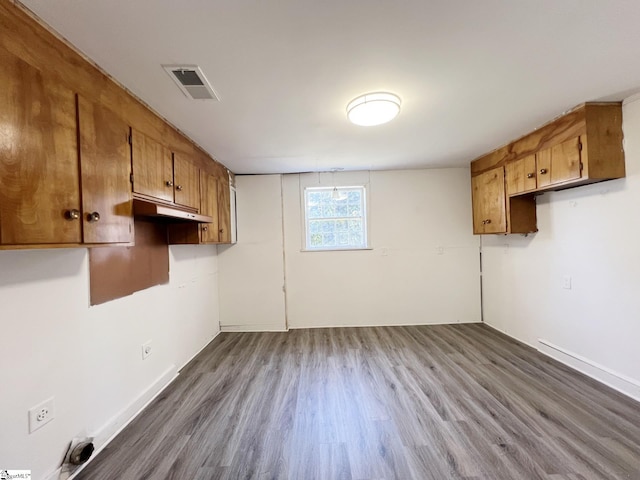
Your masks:
[[[78,97],[84,243],[133,242],[129,125]]]

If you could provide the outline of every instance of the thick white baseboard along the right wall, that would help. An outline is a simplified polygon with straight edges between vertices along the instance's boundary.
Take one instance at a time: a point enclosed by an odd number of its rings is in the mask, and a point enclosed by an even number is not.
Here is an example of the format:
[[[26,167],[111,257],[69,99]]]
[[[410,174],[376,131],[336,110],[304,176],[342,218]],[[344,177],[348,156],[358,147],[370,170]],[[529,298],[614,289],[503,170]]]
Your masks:
[[[577,353],[538,339],[538,351],[640,402],[640,382]]]

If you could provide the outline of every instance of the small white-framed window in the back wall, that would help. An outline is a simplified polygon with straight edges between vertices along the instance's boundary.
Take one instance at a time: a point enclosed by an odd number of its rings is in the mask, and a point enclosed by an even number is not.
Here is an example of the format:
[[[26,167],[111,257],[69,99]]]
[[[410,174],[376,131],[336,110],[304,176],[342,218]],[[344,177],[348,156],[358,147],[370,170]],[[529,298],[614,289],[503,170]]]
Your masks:
[[[364,187],[310,187],[304,190],[307,250],[367,248]]]

